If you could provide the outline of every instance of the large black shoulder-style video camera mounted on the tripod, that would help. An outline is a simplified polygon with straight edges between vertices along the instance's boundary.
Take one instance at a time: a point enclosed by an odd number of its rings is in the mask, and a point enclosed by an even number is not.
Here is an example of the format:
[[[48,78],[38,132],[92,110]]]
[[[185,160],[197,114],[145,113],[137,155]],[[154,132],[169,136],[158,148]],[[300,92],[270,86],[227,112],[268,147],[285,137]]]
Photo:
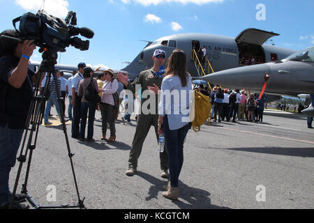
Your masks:
[[[16,23],[20,22],[19,29]],[[65,20],[61,20],[45,11],[39,10],[36,15],[25,13],[13,20],[13,26],[20,39],[34,40],[34,44],[40,49],[51,49],[54,52],[66,52],[66,47],[73,47],[82,51],[89,49],[89,40],[82,40],[77,35],[93,38],[94,32],[86,27],[75,27],[76,13],[70,11]],[[69,24],[70,23],[70,24]],[[75,36],[75,37],[73,37]]]

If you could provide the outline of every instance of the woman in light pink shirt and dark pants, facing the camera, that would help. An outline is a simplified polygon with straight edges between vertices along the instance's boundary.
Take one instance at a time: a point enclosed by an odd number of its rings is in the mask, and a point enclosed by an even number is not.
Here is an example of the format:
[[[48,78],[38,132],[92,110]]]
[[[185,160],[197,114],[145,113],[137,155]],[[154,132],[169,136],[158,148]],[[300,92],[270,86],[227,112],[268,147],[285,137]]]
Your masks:
[[[116,75],[111,69],[105,70],[106,80],[103,84],[103,96],[101,97],[100,109],[102,112],[102,131],[103,137],[102,140],[106,140],[108,142],[116,140],[116,127],[114,124],[115,116],[115,101],[114,101],[114,93],[118,91],[118,81],[116,79]],[[110,126],[110,138],[106,139],[107,133],[107,123]]]

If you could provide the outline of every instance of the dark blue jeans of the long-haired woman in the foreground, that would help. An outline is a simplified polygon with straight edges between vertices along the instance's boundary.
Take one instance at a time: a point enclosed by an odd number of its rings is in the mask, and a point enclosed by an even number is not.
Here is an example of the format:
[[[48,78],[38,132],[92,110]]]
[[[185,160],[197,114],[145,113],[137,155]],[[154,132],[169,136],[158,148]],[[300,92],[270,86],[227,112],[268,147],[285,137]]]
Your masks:
[[[172,187],[178,187],[179,185],[179,176],[184,163],[184,141],[191,127],[192,123],[188,123],[179,130],[170,130],[167,116],[163,119],[163,132],[165,134],[165,147],[168,153]]]

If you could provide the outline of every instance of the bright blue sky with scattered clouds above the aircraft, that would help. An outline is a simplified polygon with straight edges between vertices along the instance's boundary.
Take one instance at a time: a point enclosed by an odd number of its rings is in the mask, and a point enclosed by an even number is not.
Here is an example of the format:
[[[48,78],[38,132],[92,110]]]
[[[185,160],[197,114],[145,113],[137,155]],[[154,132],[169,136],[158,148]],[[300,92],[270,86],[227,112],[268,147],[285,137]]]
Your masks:
[[[0,0],[1,31],[13,29],[12,20],[37,10],[43,0]],[[256,15],[265,6],[265,19]],[[174,33],[213,33],[236,37],[247,28],[280,33],[273,38],[279,47],[304,49],[314,45],[313,0],[45,0],[48,13],[66,17],[77,13],[77,26],[95,32],[89,51],[68,47],[60,62],[114,69],[133,61],[146,43]],[[259,14],[260,15],[260,14]],[[175,24],[172,26],[172,24]],[[177,28],[177,29],[176,29]],[[40,61],[38,52],[33,60]],[[58,60],[59,61],[59,60]]]

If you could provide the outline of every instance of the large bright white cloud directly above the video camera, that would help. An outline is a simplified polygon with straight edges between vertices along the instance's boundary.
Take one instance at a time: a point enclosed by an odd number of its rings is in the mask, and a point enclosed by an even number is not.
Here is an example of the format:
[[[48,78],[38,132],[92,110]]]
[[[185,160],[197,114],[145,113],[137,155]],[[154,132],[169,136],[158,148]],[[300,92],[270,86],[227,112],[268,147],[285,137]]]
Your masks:
[[[15,0],[18,6],[33,13],[37,13],[43,4],[39,0]],[[68,1],[65,0],[45,0],[44,10],[55,17],[65,18],[68,15]]]

